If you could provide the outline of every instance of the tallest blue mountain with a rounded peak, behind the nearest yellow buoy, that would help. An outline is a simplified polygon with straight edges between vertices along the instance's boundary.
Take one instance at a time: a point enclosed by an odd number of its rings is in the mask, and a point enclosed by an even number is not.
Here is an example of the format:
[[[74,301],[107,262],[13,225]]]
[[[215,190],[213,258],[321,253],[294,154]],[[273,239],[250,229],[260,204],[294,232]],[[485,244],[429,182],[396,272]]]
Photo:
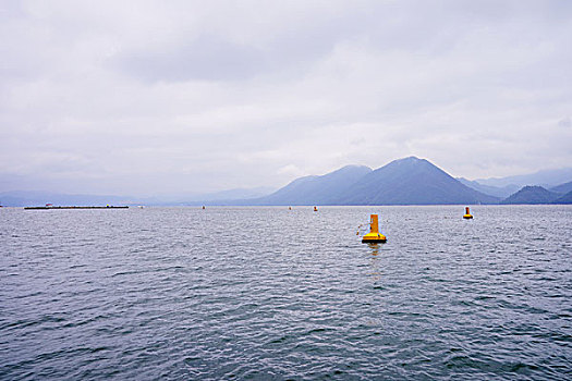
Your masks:
[[[499,198],[463,185],[425,159],[390,162],[353,184],[340,205],[496,204]]]

